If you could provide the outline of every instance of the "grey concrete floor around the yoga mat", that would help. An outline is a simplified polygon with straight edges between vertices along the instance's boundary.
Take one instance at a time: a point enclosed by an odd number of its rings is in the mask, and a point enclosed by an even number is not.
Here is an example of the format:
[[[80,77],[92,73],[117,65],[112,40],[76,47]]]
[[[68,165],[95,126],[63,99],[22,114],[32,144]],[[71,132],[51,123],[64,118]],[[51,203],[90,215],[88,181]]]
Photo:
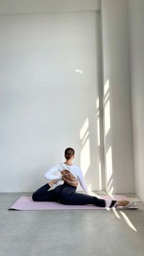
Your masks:
[[[31,195],[0,193],[1,256],[144,255],[142,201],[138,210],[8,210]]]

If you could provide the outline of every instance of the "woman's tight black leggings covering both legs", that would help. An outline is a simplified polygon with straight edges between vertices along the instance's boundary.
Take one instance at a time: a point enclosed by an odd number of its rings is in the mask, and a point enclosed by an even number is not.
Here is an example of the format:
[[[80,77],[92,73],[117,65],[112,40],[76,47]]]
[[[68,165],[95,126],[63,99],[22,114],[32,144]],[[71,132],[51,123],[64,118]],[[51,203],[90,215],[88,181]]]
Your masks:
[[[104,200],[95,196],[76,193],[76,187],[63,183],[50,191],[47,183],[32,194],[32,200],[41,202],[60,202],[65,205],[96,205],[97,207],[115,207],[116,200]]]

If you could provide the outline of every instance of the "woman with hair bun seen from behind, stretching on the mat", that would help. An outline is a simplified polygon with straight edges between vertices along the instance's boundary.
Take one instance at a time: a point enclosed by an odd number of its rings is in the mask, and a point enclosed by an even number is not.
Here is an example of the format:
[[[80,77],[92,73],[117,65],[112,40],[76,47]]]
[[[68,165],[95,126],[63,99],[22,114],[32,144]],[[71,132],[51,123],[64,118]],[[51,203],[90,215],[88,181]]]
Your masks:
[[[65,150],[65,163],[59,163],[49,169],[44,178],[47,178],[49,183],[39,188],[32,194],[34,201],[60,202],[65,205],[87,205],[93,204],[97,207],[117,207],[123,206],[124,209],[138,208],[137,204],[127,200],[104,200],[95,196],[90,196],[87,185],[82,175],[82,170],[78,166],[73,165],[74,149],[67,148]],[[57,174],[56,174],[57,172]],[[59,175],[58,175],[59,174]],[[63,184],[51,189],[51,186],[63,180]],[[78,181],[86,194],[76,193]]]

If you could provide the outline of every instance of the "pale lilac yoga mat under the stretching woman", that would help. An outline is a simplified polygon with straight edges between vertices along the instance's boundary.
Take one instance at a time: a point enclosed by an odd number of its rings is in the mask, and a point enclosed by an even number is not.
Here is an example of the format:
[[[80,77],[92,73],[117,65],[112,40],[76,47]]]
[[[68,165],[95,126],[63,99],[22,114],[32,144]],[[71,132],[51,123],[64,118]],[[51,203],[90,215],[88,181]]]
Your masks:
[[[107,200],[129,200],[128,197],[123,195],[115,195],[114,199],[110,196],[97,196],[102,199]],[[122,207],[115,207],[121,209]],[[104,207],[96,207],[95,205],[63,205],[59,202],[34,202],[32,197],[21,196],[16,200],[13,205],[9,207],[8,210],[21,210],[21,211],[31,211],[31,210],[96,210],[96,209],[106,209]]]

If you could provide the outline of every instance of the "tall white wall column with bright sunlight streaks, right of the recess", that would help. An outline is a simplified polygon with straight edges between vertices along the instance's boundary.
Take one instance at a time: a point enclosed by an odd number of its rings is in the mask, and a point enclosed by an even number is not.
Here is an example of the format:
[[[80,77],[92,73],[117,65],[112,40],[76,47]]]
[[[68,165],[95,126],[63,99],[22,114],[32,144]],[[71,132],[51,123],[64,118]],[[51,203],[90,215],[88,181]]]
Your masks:
[[[134,192],[128,16],[125,0],[102,0],[107,191]]]

